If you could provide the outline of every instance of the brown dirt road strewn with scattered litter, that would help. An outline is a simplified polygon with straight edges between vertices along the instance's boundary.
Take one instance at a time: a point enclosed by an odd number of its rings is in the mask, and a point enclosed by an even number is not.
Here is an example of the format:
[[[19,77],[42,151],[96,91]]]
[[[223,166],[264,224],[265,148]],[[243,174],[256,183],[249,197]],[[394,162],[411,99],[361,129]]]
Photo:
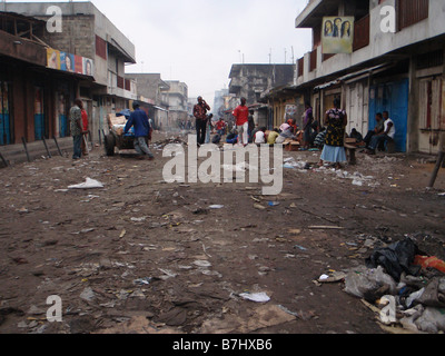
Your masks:
[[[260,185],[166,184],[159,149],[3,169],[0,333],[384,333],[342,283],[316,279],[405,235],[445,258],[445,172],[427,191],[434,164],[419,157],[305,169],[318,156],[285,152],[273,199]],[[68,189],[86,178],[103,188]],[[47,320],[53,295],[61,323]]]

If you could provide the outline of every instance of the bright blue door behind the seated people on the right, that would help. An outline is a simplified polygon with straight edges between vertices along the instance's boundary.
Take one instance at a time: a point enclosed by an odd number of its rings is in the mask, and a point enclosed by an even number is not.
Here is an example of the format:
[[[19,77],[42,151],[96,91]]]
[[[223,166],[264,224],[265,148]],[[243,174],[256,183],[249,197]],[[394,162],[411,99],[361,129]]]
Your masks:
[[[370,87],[369,95],[369,129],[376,126],[377,112],[388,111],[396,127],[396,150],[406,152],[408,127],[409,80],[387,82]]]

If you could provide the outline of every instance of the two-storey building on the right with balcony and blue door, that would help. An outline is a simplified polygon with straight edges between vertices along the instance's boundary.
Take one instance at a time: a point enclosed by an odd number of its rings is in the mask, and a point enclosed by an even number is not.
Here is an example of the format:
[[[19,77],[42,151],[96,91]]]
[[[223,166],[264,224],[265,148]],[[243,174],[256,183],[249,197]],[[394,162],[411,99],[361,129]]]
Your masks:
[[[388,111],[400,152],[436,154],[445,130],[442,0],[313,0],[296,28],[313,30],[313,49],[297,60],[295,96],[309,97],[318,119],[342,99],[348,132],[366,134]],[[327,53],[326,17],[354,20],[352,50]]]

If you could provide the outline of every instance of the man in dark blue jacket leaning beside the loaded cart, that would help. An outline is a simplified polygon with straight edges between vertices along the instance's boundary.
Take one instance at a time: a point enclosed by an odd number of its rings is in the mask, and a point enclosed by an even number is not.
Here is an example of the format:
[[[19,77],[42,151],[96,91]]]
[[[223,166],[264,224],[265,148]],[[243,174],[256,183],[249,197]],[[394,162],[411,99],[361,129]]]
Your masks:
[[[135,149],[139,154],[138,159],[144,159],[147,155],[150,160],[155,158],[147,146],[147,139],[151,134],[151,127],[148,121],[147,113],[140,109],[138,102],[132,103],[135,111],[131,112],[130,119],[127,121],[123,132],[128,134],[131,127],[135,127]]]

